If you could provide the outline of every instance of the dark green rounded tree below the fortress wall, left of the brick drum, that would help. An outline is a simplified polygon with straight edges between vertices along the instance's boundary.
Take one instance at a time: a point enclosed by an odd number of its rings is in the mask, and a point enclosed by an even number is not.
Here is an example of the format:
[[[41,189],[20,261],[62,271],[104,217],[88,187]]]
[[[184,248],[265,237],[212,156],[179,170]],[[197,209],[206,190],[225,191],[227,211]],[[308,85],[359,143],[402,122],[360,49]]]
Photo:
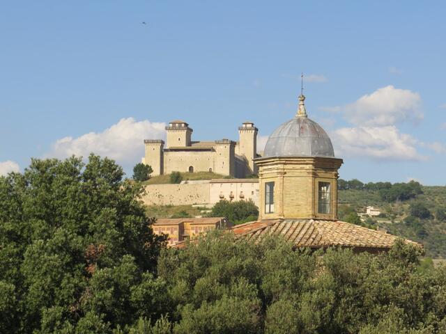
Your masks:
[[[259,218],[259,208],[252,200],[238,200],[236,202],[220,200],[220,202],[215,203],[208,216],[226,217],[231,223],[240,224],[255,221]]]

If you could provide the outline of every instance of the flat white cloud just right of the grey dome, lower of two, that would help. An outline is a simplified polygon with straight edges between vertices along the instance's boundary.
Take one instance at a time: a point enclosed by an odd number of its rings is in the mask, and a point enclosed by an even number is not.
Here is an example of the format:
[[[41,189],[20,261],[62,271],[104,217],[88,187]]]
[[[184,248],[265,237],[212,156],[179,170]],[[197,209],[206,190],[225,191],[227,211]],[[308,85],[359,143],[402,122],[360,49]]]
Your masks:
[[[348,157],[370,157],[376,160],[420,161],[417,140],[401,134],[397,127],[344,127],[332,133],[336,154]]]

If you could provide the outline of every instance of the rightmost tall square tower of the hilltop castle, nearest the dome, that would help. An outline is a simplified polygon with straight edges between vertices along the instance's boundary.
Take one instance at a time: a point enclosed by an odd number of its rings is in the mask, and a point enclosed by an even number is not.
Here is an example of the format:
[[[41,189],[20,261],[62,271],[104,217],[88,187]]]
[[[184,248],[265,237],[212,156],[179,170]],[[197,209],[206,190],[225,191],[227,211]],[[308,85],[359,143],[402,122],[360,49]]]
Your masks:
[[[253,160],[257,157],[257,132],[259,129],[254,127],[253,122],[244,122],[241,127],[238,127],[240,136],[238,154],[245,157],[248,166],[245,175],[257,173]]]

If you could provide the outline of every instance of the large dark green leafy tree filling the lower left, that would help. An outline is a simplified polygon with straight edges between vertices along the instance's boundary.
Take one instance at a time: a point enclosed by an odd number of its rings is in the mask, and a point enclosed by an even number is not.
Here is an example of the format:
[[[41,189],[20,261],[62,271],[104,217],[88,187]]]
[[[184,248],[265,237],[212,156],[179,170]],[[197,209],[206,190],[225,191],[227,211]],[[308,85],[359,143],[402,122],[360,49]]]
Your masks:
[[[23,174],[0,177],[0,331],[106,333],[159,317],[156,299],[139,314],[132,298],[156,286],[146,273],[164,244],[142,191],[93,154],[87,164],[32,159]]]

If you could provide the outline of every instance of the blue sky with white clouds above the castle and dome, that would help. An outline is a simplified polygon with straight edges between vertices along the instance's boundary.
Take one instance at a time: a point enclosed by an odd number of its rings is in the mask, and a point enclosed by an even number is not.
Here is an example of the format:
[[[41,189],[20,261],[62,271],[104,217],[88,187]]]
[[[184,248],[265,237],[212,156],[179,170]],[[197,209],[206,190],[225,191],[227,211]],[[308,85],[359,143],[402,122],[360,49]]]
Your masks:
[[[429,6],[427,6],[429,4]],[[2,1],[0,173],[90,151],[128,174],[144,138],[260,144],[306,106],[365,182],[446,184],[442,1]],[[141,24],[146,22],[146,24]]]

